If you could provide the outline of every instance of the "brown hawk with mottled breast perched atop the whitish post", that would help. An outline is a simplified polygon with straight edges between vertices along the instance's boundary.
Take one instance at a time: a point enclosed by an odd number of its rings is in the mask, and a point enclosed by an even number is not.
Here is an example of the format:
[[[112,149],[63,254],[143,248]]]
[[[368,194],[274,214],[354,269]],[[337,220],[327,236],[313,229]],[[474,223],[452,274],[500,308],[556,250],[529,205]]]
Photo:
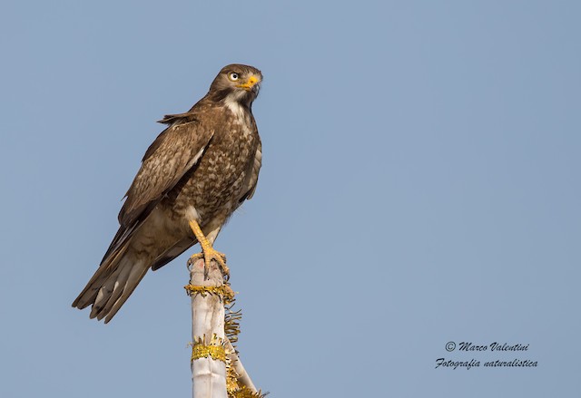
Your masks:
[[[143,156],[119,213],[120,228],[101,265],[73,306],[93,305],[91,318],[111,321],[148,269],[159,269],[200,243],[205,267],[225,257],[212,247],[235,209],[251,199],[262,148],[251,105],[261,71],[222,68],[209,92],[185,113],[166,115],[168,127]]]

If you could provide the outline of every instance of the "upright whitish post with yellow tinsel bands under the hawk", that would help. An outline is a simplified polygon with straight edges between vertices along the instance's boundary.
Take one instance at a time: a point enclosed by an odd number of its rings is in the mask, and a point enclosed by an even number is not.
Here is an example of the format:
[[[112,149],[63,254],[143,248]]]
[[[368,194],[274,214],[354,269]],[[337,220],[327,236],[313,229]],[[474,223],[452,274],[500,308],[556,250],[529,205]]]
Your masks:
[[[228,398],[224,304],[220,294],[208,293],[220,291],[222,272],[212,261],[204,279],[203,259],[199,259],[190,266],[190,286],[201,289],[199,293],[188,289],[192,296],[192,397]]]

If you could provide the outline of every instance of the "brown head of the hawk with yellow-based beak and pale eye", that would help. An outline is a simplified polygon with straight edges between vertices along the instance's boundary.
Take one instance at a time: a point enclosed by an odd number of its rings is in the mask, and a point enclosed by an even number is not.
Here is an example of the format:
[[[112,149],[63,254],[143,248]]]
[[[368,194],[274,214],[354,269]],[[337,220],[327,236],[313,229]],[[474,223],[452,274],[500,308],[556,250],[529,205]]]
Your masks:
[[[213,101],[239,102],[251,106],[261,88],[262,73],[258,69],[232,63],[224,66],[212,82],[208,96]]]

